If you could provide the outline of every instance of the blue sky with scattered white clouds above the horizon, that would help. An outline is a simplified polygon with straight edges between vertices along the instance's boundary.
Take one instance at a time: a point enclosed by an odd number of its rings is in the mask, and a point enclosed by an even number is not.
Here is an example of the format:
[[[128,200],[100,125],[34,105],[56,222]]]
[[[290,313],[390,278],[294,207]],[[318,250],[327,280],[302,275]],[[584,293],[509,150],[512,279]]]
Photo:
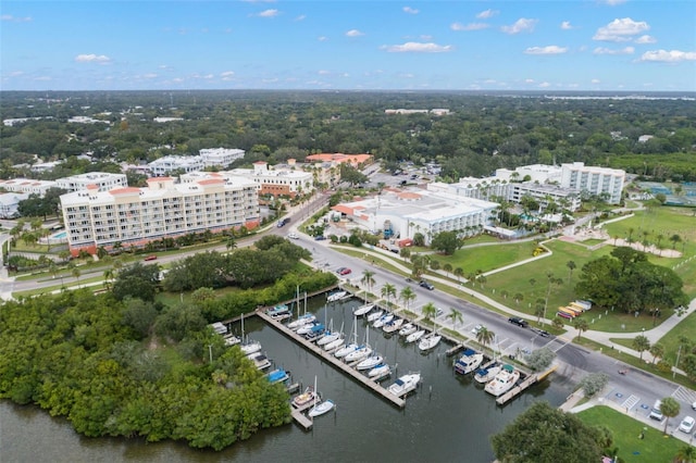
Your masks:
[[[696,1],[0,3],[2,90],[696,90]]]

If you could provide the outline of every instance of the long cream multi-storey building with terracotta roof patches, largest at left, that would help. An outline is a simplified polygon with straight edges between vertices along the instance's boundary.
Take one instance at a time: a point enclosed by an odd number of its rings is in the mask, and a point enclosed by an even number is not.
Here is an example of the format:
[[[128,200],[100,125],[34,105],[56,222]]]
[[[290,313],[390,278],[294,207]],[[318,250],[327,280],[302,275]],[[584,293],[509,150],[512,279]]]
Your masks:
[[[260,223],[256,185],[245,178],[204,178],[175,183],[150,178],[146,188],[99,191],[97,186],[61,196],[73,254],[99,247],[142,247],[162,238],[213,233]]]

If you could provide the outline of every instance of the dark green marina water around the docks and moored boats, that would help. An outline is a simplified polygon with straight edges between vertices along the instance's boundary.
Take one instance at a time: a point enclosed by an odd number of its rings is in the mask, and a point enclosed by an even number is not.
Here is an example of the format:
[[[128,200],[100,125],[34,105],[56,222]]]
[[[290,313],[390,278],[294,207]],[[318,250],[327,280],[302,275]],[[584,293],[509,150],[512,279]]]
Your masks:
[[[358,299],[326,304],[324,297],[309,301],[308,311],[321,321],[333,320],[334,328],[352,325]],[[239,331],[240,325],[234,329]],[[505,406],[473,381],[452,372],[440,343],[427,354],[414,345],[405,345],[397,334],[387,337],[381,329],[358,321],[358,337],[369,340],[394,365],[397,374],[419,371],[422,386],[409,396],[403,410],[364,389],[331,364],[266,326],[258,317],[245,320],[245,333],[263,345],[276,366],[291,372],[303,386],[314,383],[326,399],[336,402],[336,412],[320,416],[304,431],[295,424],[263,430],[251,439],[221,451],[189,449],[182,442],[146,443],[139,439],[85,438],[63,418],[49,416],[34,406],[0,402],[1,462],[210,462],[210,461],[303,461],[325,462],[490,462],[490,436],[537,400],[559,405],[570,390],[554,384],[554,375],[524,391]],[[390,384],[395,377],[387,379]]]

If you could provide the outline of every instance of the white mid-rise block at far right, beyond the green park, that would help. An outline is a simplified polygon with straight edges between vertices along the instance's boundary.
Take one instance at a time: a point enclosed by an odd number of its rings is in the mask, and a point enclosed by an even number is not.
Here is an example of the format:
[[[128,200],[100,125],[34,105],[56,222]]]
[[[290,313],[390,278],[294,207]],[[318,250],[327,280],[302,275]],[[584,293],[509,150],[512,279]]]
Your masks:
[[[610,204],[621,202],[626,173],[618,168],[586,166],[582,162],[561,164],[561,187],[581,193],[605,196]]]

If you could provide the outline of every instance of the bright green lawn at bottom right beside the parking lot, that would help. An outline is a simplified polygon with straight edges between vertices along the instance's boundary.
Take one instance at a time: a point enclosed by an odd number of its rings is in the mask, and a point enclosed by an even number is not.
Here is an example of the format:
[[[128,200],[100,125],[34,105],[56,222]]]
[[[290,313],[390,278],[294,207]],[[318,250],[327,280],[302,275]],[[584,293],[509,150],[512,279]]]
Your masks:
[[[604,425],[611,429],[612,447],[619,449],[618,455],[626,463],[669,463],[676,455],[679,449],[686,446],[686,442],[670,436],[663,437],[661,430],[644,426],[643,423],[609,406],[593,406],[577,413],[577,417],[585,424]],[[672,421],[674,420],[676,418],[672,418]],[[644,427],[647,429],[644,430]],[[638,438],[641,430],[645,433],[644,439]]]

